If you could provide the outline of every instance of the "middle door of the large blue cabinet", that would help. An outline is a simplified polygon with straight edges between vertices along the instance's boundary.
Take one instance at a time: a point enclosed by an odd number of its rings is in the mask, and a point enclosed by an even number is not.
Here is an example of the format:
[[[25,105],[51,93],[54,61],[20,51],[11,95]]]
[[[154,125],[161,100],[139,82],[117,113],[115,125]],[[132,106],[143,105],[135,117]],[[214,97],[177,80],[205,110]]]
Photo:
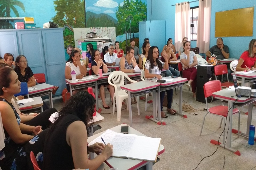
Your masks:
[[[47,82],[45,60],[43,56],[42,33],[40,30],[18,31],[20,54],[27,58],[33,73],[44,73]]]

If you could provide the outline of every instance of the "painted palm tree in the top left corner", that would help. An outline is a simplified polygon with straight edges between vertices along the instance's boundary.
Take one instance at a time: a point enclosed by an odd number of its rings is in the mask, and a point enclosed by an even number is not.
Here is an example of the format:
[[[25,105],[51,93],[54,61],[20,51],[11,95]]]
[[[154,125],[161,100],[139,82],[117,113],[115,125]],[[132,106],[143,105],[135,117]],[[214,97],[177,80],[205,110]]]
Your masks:
[[[22,2],[17,0],[0,0],[0,17],[12,17],[11,10],[13,10],[16,17],[19,17],[19,12],[15,6],[20,7],[25,12],[25,7]],[[1,21],[0,29],[12,27],[8,22]]]

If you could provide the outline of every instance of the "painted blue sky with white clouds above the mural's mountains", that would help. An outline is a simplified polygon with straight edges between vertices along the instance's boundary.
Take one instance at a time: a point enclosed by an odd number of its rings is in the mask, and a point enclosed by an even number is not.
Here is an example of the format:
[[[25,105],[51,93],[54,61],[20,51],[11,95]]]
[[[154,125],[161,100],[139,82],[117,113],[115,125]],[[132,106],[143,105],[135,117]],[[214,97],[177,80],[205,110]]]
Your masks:
[[[141,0],[143,3],[147,3],[146,0]],[[96,14],[107,14],[117,19],[115,11],[118,9],[118,5],[123,6],[123,0],[86,0],[85,11],[91,11]]]

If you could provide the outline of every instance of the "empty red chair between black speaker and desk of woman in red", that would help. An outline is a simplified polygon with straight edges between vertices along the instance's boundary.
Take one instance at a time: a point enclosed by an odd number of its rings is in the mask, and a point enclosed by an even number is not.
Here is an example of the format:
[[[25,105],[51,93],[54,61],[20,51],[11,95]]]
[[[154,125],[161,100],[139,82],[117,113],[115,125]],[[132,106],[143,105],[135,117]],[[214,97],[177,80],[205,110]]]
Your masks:
[[[227,71],[226,64],[220,64],[214,67],[215,80],[217,80],[217,75],[221,75],[221,87],[229,88],[229,86],[233,86],[234,83],[229,82],[229,76]],[[223,74],[227,74],[227,82],[222,83]]]

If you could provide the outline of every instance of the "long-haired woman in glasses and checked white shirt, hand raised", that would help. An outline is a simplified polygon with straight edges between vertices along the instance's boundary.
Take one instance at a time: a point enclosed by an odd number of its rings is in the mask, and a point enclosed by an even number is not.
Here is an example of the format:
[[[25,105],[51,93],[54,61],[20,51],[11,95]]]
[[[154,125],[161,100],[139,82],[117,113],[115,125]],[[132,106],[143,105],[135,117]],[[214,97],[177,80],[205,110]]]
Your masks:
[[[145,63],[145,78],[147,79],[152,79],[152,78],[157,78],[161,79],[161,71],[162,69],[168,70],[168,60],[170,57],[168,56],[163,56],[165,58],[165,62],[162,62],[161,60],[158,59],[159,57],[159,50],[157,46],[152,46],[149,48],[149,54],[147,56],[147,61]],[[167,109],[166,111],[169,112],[170,114],[175,114],[175,110],[171,108],[171,101],[173,98],[173,89],[171,90],[166,90],[160,92],[160,110],[161,110],[161,117],[167,118],[167,114],[163,112],[163,99],[165,97],[165,92],[167,92]]]

